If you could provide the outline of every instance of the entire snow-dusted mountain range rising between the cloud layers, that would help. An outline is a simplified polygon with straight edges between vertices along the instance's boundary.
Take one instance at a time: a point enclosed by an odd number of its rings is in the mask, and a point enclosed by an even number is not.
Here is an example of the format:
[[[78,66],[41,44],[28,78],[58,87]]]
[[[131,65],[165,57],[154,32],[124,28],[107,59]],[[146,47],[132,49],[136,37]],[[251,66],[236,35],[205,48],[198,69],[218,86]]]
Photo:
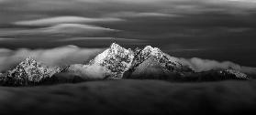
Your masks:
[[[37,62],[32,57],[20,62],[16,68],[0,73],[4,86],[33,86],[46,83],[80,82],[95,79],[165,79],[172,81],[213,81],[224,79],[250,79],[232,68],[195,72],[158,47],[142,49],[120,47],[113,43],[88,64],[52,67]]]

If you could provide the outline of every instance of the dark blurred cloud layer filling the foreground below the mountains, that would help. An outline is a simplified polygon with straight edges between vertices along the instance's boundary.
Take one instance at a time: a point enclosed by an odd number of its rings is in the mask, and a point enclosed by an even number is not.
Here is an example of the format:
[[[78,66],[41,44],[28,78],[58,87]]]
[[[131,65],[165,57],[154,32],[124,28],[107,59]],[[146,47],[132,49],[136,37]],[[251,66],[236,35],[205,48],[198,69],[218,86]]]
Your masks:
[[[108,80],[0,88],[1,114],[255,114],[256,81]]]

